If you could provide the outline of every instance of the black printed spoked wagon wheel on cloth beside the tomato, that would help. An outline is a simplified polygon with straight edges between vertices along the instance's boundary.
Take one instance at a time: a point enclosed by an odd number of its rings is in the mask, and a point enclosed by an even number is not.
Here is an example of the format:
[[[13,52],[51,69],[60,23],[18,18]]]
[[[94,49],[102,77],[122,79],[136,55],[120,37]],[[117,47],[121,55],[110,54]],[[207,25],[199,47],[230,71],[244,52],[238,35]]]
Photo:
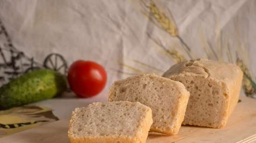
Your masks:
[[[44,60],[44,67],[53,69],[61,74],[67,74],[67,62],[60,54],[52,53],[48,55]]]

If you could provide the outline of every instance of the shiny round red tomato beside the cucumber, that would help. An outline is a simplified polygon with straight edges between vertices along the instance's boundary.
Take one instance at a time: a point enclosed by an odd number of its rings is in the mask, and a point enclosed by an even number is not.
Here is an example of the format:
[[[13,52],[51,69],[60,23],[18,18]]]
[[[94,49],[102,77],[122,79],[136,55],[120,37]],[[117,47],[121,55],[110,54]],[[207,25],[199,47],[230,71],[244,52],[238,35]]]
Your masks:
[[[79,97],[91,97],[103,90],[107,73],[96,62],[78,60],[70,66],[67,80],[71,90]]]

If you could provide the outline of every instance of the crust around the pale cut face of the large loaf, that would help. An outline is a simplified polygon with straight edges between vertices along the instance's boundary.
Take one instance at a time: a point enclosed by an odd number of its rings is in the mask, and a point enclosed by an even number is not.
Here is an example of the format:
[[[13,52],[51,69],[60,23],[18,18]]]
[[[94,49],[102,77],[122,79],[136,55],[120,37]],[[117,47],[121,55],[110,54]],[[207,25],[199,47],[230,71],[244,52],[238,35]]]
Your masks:
[[[212,122],[210,124],[195,123],[192,119],[185,115],[184,122],[182,124],[189,124],[189,125],[199,125],[199,126],[207,126],[212,128],[221,128],[225,126],[228,121],[230,114],[233,112],[241,90],[241,84],[243,79],[243,72],[242,70],[233,64],[223,63],[212,61],[208,59],[197,59],[191,60],[186,62],[180,62],[172,66],[163,74],[164,77],[167,77],[172,80],[177,79],[184,79],[186,77],[193,77],[195,79],[201,79],[205,81],[210,81],[215,83],[220,88],[220,93],[224,99],[223,101],[223,108],[222,112],[223,115],[219,115],[220,118],[216,122]],[[183,83],[186,85],[186,83]],[[187,84],[188,85],[188,84]],[[208,85],[204,85],[207,87]],[[191,89],[188,89],[191,90]],[[190,94],[190,98],[194,98]],[[200,98],[209,97],[209,94],[202,95]],[[189,99],[190,102],[190,99]],[[193,104],[193,103],[191,103]],[[202,103],[204,104],[204,103]],[[212,106],[216,106],[213,103]],[[186,114],[189,112],[186,111]],[[211,113],[209,113],[211,114]]]

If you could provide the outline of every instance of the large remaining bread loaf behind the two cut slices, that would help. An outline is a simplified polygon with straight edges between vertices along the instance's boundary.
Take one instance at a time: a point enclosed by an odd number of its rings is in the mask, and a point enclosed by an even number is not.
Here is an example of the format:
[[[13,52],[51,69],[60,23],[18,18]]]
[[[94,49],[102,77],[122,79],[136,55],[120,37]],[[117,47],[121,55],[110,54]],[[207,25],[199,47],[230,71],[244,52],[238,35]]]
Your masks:
[[[182,124],[220,128],[236,106],[243,72],[233,64],[197,59],[177,63],[163,76],[182,82],[190,92]]]

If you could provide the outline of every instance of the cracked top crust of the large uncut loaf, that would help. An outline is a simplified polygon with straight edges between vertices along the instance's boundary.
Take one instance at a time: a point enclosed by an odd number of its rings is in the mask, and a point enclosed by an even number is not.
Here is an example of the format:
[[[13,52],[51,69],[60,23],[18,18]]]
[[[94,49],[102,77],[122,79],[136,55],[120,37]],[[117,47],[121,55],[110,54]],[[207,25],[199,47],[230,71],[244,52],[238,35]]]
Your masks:
[[[200,58],[177,63],[169,68],[163,76],[169,78],[173,75],[186,73],[229,84],[236,82],[237,75],[241,73],[241,69],[234,64]]]

